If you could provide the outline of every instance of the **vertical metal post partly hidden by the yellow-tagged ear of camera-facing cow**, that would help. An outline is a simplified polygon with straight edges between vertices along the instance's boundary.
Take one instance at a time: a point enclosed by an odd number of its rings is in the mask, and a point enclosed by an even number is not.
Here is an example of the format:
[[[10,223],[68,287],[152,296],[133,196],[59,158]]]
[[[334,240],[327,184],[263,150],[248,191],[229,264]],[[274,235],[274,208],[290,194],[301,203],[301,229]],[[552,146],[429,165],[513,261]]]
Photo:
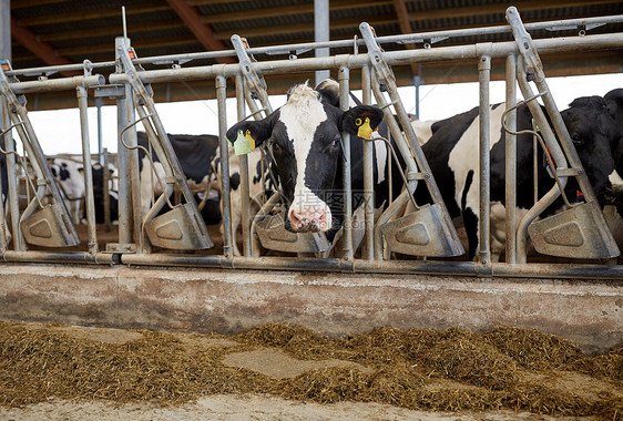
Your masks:
[[[350,69],[339,68],[339,107],[348,110]],[[344,143],[344,259],[353,260],[353,189],[350,185],[350,134],[341,134]]]

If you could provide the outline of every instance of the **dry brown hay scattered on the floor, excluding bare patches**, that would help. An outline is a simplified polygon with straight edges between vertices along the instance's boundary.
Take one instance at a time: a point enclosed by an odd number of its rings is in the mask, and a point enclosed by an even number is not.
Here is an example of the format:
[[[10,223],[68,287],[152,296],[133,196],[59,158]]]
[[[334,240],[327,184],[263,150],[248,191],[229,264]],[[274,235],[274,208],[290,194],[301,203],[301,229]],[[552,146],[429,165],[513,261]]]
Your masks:
[[[201,335],[182,340],[174,333],[141,333],[141,339],[122,345],[104,343],[50,327],[25,329],[0,321],[0,404],[53,397],[178,404],[202,394],[255,392],[327,403],[623,419],[623,346],[589,358],[568,340],[537,330],[500,327],[480,335],[459,328],[379,328],[329,339],[272,324],[228,337],[233,346],[223,347],[201,346],[207,337]],[[371,370],[328,367],[274,379],[223,363],[229,353],[258,347]]]

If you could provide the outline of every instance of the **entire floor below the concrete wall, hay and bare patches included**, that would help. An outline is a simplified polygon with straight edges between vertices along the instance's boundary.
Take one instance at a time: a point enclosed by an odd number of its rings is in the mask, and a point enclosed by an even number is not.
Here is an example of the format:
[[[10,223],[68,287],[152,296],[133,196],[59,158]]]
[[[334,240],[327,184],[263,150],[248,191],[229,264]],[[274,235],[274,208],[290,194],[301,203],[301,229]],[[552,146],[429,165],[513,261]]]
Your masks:
[[[622,338],[623,339],[623,338]],[[1,420],[623,420],[623,345],[500,327],[328,339],[0,321]]]

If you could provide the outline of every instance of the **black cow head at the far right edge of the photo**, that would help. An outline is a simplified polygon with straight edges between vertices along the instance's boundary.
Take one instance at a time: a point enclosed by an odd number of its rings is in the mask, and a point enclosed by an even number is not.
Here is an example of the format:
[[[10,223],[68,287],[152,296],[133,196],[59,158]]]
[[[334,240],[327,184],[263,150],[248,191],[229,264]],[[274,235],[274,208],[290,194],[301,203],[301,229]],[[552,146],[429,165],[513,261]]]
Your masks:
[[[579,97],[561,115],[603,206],[606,196],[617,194],[613,191],[614,154],[621,137],[616,123],[601,96]]]

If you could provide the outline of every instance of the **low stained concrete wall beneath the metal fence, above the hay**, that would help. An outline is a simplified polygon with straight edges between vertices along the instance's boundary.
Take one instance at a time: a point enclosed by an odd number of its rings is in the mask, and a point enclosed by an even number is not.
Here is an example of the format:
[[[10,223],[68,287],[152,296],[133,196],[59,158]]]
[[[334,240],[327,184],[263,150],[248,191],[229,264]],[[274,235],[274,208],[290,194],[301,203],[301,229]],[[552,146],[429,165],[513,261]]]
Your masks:
[[[508,325],[593,353],[623,341],[623,280],[3,264],[0,318],[223,333],[282,322],[327,336]]]

